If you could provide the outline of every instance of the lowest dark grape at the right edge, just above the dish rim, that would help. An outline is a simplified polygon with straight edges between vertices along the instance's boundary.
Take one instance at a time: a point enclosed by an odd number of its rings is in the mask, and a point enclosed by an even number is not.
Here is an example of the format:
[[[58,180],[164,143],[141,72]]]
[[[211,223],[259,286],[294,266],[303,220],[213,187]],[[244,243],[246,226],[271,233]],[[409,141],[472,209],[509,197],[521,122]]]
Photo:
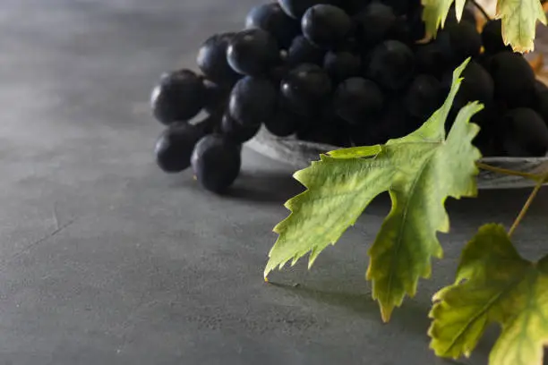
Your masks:
[[[502,119],[501,145],[511,157],[544,157],[548,150],[548,127],[533,109],[518,107]]]

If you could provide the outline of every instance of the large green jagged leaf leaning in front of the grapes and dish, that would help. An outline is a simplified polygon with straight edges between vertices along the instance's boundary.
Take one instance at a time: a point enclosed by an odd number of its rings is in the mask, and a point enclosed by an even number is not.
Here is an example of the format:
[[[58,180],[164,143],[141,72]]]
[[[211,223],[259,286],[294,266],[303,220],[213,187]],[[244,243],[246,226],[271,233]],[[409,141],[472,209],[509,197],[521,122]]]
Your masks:
[[[295,173],[307,190],[287,201],[291,214],[274,227],[278,240],[270,250],[265,278],[308,252],[312,267],[321,250],[337,242],[372,199],[389,191],[392,208],[369,250],[367,279],[385,321],[406,293],[415,295],[419,278],[430,275],[432,256],[441,258],[436,232],[449,230],[445,199],[477,192],[475,161],[481,155],[471,141],[479,127],[469,120],[483,106],[463,107],[449,135],[445,132],[468,62],[453,72],[441,108],[415,132],[385,145],[332,151]]]

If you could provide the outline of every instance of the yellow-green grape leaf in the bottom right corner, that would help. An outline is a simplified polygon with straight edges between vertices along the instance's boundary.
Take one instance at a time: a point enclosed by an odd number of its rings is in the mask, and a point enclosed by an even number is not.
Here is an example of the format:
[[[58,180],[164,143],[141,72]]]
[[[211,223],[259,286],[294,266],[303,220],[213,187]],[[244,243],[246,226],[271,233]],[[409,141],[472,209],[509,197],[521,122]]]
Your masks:
[[[501,225],[484,225],[463,250],[457,280],[434,295],[429,335],[438,356],[469,356],[485,328],[502,332],[490,365],[542,365],[548,344],[548,255],[522,259]]]

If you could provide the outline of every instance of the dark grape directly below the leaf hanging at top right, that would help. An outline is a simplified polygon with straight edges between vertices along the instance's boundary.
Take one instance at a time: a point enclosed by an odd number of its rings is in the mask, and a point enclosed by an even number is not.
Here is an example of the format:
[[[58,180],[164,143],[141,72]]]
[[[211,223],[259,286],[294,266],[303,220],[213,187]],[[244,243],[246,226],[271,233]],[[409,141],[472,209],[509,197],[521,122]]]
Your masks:
[[[501,52],[489,64],[495,97],[509,106],[528,106],[535,96],[535,72],[518,54]]]

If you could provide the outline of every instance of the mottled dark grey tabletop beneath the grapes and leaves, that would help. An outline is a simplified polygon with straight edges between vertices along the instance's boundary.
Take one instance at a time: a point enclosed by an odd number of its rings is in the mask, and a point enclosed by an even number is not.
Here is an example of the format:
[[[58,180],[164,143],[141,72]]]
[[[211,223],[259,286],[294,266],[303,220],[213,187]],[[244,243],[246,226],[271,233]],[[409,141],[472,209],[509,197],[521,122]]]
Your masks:
[[[0,364],[444,363],[428,350],[431,295],[475,227],[509,224],[527,191],[450,201],[446,258],[383,325],[364,272],[386,198],[310,273],[300,263],[269,285],[291,171],[245,151],[220,199],[154,166],[150,86],[254,3],[1,2]],[[543,191],[517,235],[527,257],[548,248],[547,222]],[[466,363],[485,363],[494,334]]]

